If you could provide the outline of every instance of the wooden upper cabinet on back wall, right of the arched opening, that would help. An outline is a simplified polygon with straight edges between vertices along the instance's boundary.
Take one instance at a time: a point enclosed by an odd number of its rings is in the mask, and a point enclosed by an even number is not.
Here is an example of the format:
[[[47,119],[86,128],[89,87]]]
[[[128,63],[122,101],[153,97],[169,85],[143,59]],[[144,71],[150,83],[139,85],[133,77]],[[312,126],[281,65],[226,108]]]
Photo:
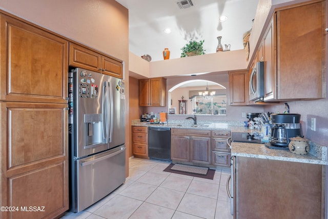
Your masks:
[[[248,70],[230,71],[230,105],[249,105]]]

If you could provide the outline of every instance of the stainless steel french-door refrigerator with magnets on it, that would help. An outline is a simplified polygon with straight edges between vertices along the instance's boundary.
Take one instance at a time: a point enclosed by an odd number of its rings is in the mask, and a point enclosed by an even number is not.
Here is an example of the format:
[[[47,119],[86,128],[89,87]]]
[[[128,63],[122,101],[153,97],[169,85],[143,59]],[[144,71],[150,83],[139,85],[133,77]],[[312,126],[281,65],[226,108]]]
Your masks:
[[[79,212],[125,182],[125,89],[121,79],[80,68],[68,81],[70,209]]]

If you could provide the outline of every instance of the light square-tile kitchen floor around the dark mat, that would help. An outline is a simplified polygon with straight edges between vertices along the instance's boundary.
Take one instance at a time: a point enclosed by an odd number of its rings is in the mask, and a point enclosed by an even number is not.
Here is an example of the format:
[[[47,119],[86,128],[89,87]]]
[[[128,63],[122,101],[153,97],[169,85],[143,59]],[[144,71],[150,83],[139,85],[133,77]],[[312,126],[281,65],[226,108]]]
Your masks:
[[[233,218],[226,190],[230,168],[216,169],[214,180],[207,180],[163,172],[169,164],[131,158],[123,185],[86,210],[62,218]]]

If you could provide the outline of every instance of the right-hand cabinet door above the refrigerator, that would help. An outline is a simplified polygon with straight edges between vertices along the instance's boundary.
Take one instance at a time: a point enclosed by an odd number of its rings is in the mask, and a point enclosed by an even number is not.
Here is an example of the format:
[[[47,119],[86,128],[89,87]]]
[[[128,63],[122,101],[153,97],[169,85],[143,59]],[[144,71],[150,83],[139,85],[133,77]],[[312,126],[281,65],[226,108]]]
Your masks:
[[[103,74],[123,78],[123,64],[107,56],[101,56],[101,69]]]

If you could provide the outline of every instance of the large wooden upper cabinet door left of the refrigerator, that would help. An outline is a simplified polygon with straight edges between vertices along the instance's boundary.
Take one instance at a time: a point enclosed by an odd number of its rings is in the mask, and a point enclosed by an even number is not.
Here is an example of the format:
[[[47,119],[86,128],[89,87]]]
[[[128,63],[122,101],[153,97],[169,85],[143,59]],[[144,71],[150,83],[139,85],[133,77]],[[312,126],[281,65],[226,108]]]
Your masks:
[[[1,15],[2,101],[67,103],[68,41]]]

